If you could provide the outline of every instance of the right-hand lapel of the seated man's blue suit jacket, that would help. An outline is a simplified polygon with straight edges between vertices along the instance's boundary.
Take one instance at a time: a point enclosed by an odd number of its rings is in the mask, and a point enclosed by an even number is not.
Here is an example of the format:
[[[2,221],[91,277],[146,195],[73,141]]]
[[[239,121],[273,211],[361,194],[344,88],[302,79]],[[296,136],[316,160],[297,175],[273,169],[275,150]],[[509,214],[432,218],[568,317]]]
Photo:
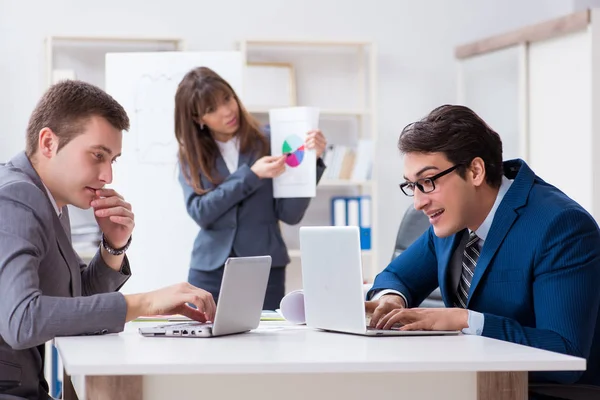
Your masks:
[[[514,181],[496,210],[492,226],[481,249],[481,255],[479,256],[477,267],[475,267],[475,273],[471,280],[467,307],[475,294],[479,282],[483,279],[487,268],[492,263],[498,248],[519,216],[519,208],[527,204],[529,191],[535,179],[533,171],[522,160],[505,162],[504,174],[509,179],[514,179]],[[502,266],[498,265],[496,268],[502,268]]]

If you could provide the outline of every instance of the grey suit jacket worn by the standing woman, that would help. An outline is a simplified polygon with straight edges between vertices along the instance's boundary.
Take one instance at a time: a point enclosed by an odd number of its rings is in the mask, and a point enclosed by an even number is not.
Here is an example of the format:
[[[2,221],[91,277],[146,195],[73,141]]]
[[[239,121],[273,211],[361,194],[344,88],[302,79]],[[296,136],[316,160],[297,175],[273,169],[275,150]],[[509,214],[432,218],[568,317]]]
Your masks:
[[[179,182],[188,214],[200,226],[194,241],[190,268],[211,271],[225,263],[230,254],[239,257],[270,255],[273,267],[290,262],[281,236],[279,221],[299,223],[310,198],[273,198],[273,181],[260,179],[250,166],[256,154],[240,153],[238,169],[229,173],[219,154],[215,168],[224,181],[213,185],[201,175],[202,186],[209,192],[199,195],[179,173]],[[325,171],[323,160],[317,161],[317,182]]]

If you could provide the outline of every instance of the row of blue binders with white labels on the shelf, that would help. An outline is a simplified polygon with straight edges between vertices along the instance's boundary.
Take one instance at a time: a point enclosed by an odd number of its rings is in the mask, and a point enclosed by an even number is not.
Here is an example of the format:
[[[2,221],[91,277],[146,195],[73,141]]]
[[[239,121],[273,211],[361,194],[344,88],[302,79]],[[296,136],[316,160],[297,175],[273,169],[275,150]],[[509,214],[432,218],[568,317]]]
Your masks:
[[[331,225],[358,226],[361,250],[371,249],[371,196],[331,198]]]

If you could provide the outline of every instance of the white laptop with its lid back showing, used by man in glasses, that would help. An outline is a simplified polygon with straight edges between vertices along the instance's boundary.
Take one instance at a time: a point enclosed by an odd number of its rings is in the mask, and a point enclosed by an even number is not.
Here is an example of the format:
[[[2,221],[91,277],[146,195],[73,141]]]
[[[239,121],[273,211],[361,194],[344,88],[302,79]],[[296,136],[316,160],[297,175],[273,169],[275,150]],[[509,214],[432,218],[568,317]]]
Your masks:
[[[459,331],[400,331],[367,326],[360,232],[356,226],[300,228],[306,325],[366,336],[456,335]]]

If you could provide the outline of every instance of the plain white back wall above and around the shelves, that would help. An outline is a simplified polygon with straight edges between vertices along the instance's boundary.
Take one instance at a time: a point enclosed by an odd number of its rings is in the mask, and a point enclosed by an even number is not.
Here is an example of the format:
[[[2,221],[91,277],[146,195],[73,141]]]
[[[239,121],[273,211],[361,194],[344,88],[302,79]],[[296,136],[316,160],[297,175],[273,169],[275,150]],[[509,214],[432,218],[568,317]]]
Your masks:
[[[376,234],[384,262],[410,204],[397,186],[398,134],[432,108],[456,101],[454,46],[573,6],[570,0],[0,0],[0,161],[23,148],[44,87],[48,35],[182,37],[189,50],[233,49],[244,37],[373,40],[379,50]]]

